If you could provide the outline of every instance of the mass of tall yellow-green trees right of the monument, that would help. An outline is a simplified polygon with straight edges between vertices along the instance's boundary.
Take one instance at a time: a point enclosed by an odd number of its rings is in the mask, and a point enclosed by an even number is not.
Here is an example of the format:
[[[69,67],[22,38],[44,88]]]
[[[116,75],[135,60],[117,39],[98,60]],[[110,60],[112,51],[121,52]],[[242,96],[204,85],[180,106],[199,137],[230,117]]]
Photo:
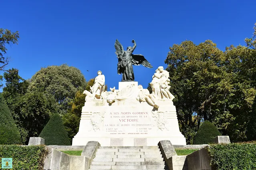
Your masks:
[[[254,30],[256,28],[254,27]],[[223,135],[244,141],[256,94],[255,34],[247,47],[230,45],[221,51],[206,40],[170,47],[165,63],[170,72],[170,92],[181,132],[193,142],[201,121],[209,120]]]

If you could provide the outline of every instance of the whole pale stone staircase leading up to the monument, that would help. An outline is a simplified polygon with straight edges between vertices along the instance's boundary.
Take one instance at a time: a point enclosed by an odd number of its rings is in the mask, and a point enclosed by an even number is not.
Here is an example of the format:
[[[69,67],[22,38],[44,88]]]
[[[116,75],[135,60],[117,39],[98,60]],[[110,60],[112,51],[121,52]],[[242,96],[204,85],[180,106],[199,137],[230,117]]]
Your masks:
[[[90,170],[168,169],[158,146],[99,146]]]

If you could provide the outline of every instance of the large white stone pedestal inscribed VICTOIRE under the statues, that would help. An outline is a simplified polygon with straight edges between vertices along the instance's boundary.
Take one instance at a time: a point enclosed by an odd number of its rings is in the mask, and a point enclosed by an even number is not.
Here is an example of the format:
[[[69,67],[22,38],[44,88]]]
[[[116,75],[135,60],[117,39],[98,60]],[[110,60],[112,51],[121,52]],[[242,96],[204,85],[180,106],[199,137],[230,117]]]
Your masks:
[[[111,104],[106,99],[87,99],[72,145],[98,141],[101,146],[112,146],[113,143],[138,146],[140,142],[142,146],[157,146],[160,140],[185,145],[172,100],[158,99],[159,108],[156,109],[147,102],[137,101],[137,82],[119,82],[119,91],[127,86],[136,90],[127,99],[119,98]]]

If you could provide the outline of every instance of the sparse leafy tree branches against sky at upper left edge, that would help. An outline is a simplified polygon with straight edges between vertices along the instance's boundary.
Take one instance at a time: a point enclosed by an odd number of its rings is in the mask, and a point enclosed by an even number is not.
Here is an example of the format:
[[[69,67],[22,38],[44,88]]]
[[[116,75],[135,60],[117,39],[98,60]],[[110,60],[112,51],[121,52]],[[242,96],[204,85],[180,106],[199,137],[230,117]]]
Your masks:
[[[6,44],[18,44],[19,32],[11,32],[10,30],[0,28],[0,71],[8,64],[9,58],[4,57],[7,48]]]

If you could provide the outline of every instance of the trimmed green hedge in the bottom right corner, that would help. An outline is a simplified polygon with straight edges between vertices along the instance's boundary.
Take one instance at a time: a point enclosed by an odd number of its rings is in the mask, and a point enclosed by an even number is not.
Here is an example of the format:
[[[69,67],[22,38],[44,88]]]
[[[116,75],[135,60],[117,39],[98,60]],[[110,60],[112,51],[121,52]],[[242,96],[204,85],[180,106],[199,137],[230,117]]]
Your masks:
[[[208,151],[216,170],[256,170],[256,144],[214,144]]]

